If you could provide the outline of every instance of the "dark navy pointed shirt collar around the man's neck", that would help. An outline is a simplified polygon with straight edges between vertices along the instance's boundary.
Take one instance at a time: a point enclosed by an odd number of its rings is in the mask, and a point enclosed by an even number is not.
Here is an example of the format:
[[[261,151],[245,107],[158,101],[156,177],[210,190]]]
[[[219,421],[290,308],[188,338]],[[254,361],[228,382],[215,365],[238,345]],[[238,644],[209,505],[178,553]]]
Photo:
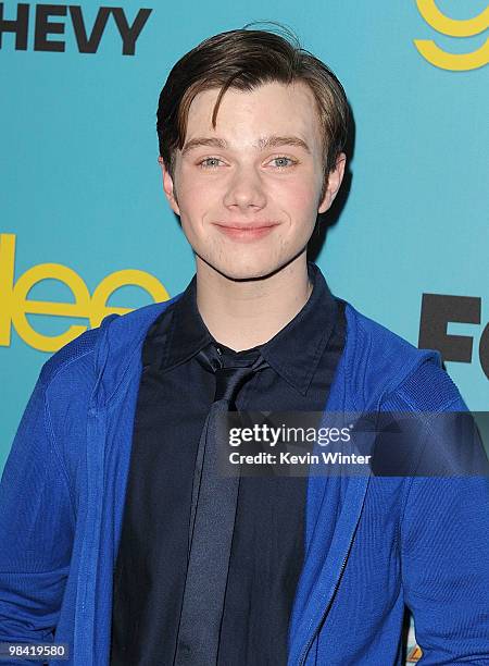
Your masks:
[[[263,358],[292,387],[305,395],[331,336],[338,306],[319,268],[308,261],[313,289],[303,308],[260,349]],[[197,275],[173,307],[162,371],[178,366],[210,343],[216,343],[197,307]],[[176,333],[176,334],[174,334]],[[149,336],[158,335],[149,331]]]

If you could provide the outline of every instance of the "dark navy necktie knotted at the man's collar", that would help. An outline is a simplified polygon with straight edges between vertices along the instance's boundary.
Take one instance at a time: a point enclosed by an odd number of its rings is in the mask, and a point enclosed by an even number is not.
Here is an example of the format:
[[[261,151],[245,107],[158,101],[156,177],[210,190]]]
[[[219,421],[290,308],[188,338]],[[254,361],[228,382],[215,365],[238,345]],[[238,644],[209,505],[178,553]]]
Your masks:
[[[198,360],[215,372],[214,402],[205,419],[196,459],[189,523],[189,557],[175,651],[175,666],[214,666],[217,663],[229,556],[235,527],[239,476],[218,472],[220,416],[235,408],[241,386],[268,367],[259,350],[225,367],[213,345]],[[243,365],[244,363],[244,365]]]

